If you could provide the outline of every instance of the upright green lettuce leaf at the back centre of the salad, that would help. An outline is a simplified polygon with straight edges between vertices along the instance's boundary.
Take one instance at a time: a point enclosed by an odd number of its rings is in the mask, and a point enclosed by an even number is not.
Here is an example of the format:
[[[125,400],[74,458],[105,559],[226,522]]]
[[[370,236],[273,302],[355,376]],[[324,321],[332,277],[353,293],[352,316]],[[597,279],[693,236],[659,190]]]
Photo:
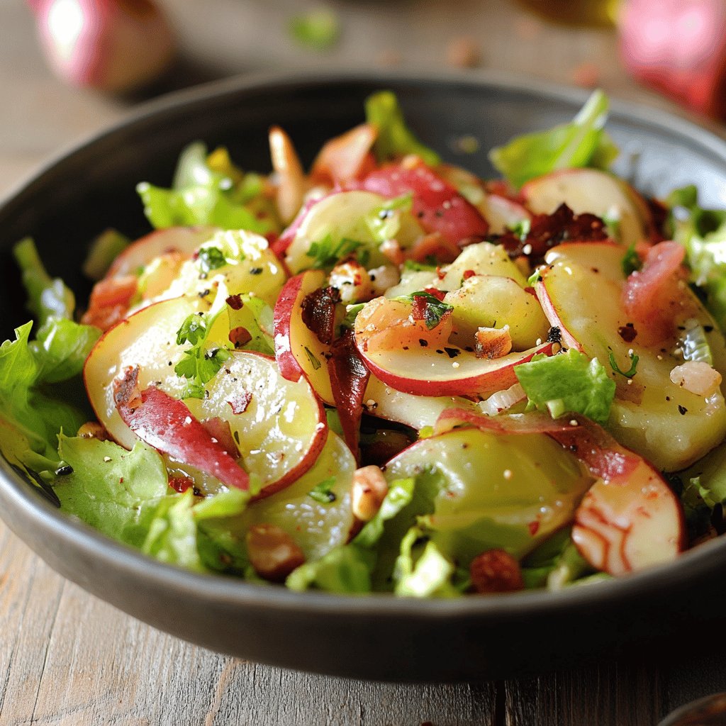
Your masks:
[[[422,144],[406,125],[404,114],[393,91],[378,91],[366,99],[366,121],[378,129],[373,152],[379,162],[416,154],[429,166],[441,163],[441,157]]]

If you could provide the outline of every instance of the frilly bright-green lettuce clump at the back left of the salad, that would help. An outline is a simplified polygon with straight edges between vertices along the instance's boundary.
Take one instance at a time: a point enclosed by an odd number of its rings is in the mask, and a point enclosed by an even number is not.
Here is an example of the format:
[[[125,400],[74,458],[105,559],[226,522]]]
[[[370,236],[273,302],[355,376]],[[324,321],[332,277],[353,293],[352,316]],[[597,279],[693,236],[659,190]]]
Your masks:
[[[261,194],[258,176],[250,181],[219,151],[208,158],[201,142],[181,152],[171,189],[142,181],[136,191],[156,229],[209,224],[258,234],[279,231],[272,207]]]

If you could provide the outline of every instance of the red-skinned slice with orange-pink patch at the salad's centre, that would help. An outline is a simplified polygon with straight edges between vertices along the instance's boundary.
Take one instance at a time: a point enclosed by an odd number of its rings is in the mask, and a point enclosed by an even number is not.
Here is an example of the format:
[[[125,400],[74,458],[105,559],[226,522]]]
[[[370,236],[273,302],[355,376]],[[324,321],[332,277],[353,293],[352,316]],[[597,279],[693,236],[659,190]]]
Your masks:
[[[450,316],[428,330],[407,303],[375,298],[356,317],[356,345],[367,367],[383,383],[418,396],[476,396],[517,383],[514,367],[537,353],[550,354],[552,343],[497,359],[478,358],[472,350],[449,344]]]

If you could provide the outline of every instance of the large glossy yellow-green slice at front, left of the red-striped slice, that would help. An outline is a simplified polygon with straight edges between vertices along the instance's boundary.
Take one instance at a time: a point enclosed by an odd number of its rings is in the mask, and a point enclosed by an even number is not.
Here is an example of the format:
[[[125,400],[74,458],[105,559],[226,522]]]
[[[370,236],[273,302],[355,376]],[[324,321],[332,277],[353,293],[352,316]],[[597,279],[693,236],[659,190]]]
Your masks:
[[[486,418],[486,417],[482,417]],[[422,521],[440,550],[467,566],[502,548],[521,558],[566,526],[592,477],[542,433],[460,428],[417,441],[388,462],[388,481],[433,470],[445,486]]]

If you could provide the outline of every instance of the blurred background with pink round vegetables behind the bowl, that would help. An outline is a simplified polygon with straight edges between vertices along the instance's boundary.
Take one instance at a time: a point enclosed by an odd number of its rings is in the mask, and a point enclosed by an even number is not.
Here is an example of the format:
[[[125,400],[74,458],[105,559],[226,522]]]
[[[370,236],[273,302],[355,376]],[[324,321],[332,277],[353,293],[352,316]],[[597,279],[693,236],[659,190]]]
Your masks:
[[[718,120],[725,17],[723,0],[0,0],[0,193],[139,102],[261,70],[508,71]]]

